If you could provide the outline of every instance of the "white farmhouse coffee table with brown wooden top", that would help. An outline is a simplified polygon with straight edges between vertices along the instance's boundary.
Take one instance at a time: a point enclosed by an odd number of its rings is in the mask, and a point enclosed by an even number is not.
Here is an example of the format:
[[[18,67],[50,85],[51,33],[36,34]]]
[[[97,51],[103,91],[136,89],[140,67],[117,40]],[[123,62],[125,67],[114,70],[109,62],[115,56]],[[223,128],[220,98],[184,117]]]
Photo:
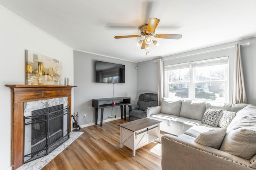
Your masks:
[[[136,149],[154,140],[160,142],[160,123],[145,117],[120,124],[120,148],[125,145],[132,149],[132,155],[135,156]]]

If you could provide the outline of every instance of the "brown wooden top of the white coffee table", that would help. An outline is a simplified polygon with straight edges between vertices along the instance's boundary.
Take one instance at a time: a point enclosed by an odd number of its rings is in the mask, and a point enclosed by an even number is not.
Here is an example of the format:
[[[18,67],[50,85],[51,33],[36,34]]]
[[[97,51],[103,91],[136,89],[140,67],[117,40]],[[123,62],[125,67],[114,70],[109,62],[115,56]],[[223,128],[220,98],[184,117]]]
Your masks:
[[[150,119],[150,118],[142,118],[142,119],[137,119],[134,121],[129,121],[126,123],[122,123],[119,126],[124,127],[130,131],[136,132],[140,129],[144,129],[147,127],[150,127],[152,125],[155,125],[157,123],[160,123],[161,121],[155,120],[155,119]]]

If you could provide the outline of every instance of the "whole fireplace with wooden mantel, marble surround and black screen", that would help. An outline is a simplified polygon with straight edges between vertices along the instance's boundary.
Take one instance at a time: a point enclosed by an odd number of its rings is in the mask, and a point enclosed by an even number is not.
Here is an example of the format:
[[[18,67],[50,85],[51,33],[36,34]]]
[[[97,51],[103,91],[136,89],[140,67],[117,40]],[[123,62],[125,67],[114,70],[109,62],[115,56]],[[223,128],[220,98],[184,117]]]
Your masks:
[[[15,170],[52,152],[69,138],[72,88],[76,86],[6,86],[12,90],[12,169]],[[50,110],[38,113],[48,107]]]

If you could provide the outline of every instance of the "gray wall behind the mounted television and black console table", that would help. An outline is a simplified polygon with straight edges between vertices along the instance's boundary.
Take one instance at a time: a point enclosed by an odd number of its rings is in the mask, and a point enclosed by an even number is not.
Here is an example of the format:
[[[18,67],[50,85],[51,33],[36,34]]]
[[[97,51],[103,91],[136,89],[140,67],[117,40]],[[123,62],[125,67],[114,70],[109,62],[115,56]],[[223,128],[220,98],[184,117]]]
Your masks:
[[[125,65],[125,83],[95,83],[94,68],[95,60]],[[130,97],[131,103],[137,102],[137,70],[136,63],[118,60],[110,57],[74,51],[74,112],[79,113],[79,124],[86,125],[95,122],[95,109],[92,107],[92,99]],[[113,110],[112,110],[113,109]],[[83,117],[86,113],[86,118]],[[120,117],[120,107],[104,108],[103,120],[110,115]],[[128,106],[126,106],[128,115]],[[100,121],[100,110],[98,111],[98,121]]]

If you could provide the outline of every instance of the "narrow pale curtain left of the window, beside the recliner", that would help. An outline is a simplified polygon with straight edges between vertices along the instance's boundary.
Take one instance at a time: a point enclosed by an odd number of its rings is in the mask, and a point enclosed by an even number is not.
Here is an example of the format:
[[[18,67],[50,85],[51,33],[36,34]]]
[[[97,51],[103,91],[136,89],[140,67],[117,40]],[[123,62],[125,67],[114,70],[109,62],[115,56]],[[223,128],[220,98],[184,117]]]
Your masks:
[[[158,106],[162,104],[163,90],[163,61],[158,59]]]

